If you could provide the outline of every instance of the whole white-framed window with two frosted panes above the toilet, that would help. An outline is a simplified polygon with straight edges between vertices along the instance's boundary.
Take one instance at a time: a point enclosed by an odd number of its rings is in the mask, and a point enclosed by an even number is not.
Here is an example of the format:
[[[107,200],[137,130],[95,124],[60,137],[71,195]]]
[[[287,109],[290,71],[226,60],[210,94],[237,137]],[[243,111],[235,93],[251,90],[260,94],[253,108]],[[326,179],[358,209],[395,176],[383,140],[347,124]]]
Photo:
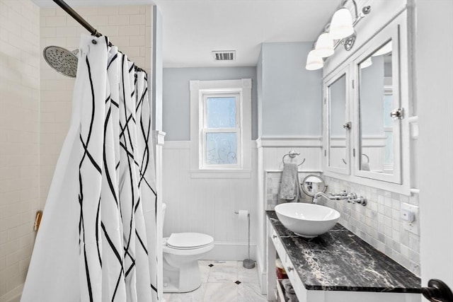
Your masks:
[[[190,81],[190,127],[194,177],[249,173],[251,79]]]

